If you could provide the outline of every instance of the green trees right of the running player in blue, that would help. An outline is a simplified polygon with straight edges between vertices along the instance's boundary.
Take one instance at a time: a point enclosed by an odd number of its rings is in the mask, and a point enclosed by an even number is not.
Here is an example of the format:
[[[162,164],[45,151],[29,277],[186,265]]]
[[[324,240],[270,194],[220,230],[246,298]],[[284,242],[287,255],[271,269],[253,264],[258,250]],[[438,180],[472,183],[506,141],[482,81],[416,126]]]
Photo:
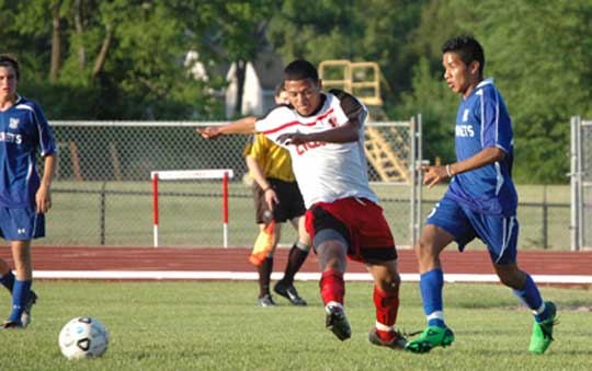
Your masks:
[[[482,42],[513,118],[516,178],[567,182],[569,117],[592,114],[592,3],[455,3],[473,7],[466,25]]]

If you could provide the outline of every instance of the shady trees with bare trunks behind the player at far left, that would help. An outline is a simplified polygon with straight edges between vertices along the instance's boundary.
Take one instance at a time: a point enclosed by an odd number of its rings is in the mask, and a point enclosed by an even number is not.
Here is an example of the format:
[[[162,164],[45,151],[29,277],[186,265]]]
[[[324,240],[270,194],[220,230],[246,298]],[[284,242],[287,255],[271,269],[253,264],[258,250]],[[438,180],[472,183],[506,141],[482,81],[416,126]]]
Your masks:
[[[14,20],[3,23],[0,37],[15,39],[4,44],[11,49],[29,46],[19,56],[33,74],[21,88],[44,103],[49,117],[209,116],[221,111],[212,94],[220,80],[187,79],[183,65],[187,50],[203,46],[195,36],[205,28],[200,5],[197,0],[0,2],[0,16]]]

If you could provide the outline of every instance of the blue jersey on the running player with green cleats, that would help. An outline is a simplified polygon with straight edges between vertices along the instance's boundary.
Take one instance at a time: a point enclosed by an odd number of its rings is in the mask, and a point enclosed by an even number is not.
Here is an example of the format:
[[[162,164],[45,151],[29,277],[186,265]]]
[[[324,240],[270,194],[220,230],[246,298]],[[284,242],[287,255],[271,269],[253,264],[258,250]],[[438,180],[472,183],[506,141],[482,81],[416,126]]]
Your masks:
[[[457,161],[469,159],[488,147],[502,149],[505,156],[455,175],[446,196],[477,212],[515,216],[517,195],[511,174],[514,158],[512,121],[492,80],[481,81],[460,103],[455,137]]]

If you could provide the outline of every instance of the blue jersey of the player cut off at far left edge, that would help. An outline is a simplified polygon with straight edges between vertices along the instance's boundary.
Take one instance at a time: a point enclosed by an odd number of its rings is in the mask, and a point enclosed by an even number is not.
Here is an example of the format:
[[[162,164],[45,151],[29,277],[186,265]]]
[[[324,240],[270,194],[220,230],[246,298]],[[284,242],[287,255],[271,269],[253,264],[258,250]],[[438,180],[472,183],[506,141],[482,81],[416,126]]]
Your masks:
[[[41,107],[19,96],[0,112],[0,207],[34,205],[39,187],[36,158],[54,153],[56,144]]]

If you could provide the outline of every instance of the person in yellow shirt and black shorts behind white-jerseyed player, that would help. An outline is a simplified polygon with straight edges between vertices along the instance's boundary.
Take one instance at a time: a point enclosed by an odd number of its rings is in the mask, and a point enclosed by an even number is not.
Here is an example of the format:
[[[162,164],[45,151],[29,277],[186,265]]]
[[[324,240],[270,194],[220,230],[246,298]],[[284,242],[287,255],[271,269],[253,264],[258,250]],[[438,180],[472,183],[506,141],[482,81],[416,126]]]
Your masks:
[[[275,90],[275,102],[285,104],[287,98],[283,84]],[[255,219],[260,230],[266,227],[270,216],[275,221],[272,233],[272,248],[259,270],[259,305],[274,306],[275,302],[270,292],[270,279],[273,270],[273,254],[281,237],[282,223],[289,221],[298,231],[298,240],[289,251],[284,278],[280,280],[274,291],[288,299],[294,305],[306,305],[294,287],[294,276],[300,269],[310,250],[310,237],[304,225],[306,208],[298,184],[292,171],[289,152],[273,143],[263,135],[254,135],[244,149],[244,158],[253,183]]]

